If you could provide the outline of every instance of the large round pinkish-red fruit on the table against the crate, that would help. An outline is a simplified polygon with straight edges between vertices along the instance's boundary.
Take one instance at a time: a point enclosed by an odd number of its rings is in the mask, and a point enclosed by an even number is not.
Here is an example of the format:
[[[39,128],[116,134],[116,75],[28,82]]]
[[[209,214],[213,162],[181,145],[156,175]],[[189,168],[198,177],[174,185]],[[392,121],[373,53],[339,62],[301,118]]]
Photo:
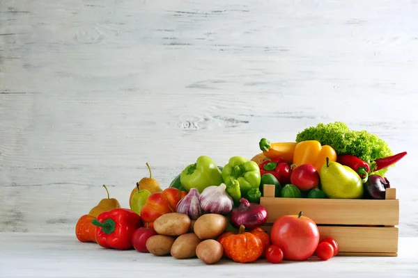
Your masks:
[[[270,231],[272,245],[283,250],[284,259],[304,261],[314,254],[319,243],[319,230],[314,220],[299,215],[283,215]]]

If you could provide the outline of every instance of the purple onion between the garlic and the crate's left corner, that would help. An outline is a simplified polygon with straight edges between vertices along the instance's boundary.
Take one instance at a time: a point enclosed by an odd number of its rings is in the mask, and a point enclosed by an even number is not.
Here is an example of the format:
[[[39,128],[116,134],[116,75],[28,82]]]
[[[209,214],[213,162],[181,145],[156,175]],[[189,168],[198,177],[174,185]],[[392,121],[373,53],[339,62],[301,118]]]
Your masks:
[[[235,228],[244,225],[247,229],[255,229],[267,221],[268,213],[264,206],[249,203],[247,199],[240,199],[240,206],[231,211],[231,225]]]

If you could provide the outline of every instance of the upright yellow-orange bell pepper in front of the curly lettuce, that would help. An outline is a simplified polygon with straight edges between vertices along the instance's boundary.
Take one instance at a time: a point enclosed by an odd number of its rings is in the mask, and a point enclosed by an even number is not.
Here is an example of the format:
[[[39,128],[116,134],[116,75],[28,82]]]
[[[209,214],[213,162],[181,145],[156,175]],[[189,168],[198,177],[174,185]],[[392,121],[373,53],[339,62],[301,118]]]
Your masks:
[[[336,161],[336,152],[331,146],[320,145],[317,140],[302,141],[295,147],[293,164],[296,166],[311,164],[320,172],[320,168],[327,163],[327,157],[330,161]]]

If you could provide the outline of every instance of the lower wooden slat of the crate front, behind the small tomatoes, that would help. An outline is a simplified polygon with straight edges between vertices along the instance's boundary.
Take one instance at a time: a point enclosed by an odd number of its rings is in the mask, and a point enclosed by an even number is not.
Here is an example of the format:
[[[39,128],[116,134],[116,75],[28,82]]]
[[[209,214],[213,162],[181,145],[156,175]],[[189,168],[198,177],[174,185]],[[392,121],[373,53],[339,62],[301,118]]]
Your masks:
[[[261,227],[270,234],[272,224]],[[339,243],[340,252],[397,253],[396,227],[334,227],[318,226],[320,239],[331,236]],[[353,255],[354,256],[354,255]]]

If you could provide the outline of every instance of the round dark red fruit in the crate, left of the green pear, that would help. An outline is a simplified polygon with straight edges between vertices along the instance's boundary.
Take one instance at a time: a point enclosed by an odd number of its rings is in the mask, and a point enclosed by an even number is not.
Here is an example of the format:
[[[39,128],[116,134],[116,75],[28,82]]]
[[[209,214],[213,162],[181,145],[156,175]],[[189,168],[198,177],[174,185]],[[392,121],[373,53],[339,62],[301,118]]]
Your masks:
[[[314,165],[302,164],[292,171],[291,183],[301,191],[311,190],[319,184],[319,173]]]

